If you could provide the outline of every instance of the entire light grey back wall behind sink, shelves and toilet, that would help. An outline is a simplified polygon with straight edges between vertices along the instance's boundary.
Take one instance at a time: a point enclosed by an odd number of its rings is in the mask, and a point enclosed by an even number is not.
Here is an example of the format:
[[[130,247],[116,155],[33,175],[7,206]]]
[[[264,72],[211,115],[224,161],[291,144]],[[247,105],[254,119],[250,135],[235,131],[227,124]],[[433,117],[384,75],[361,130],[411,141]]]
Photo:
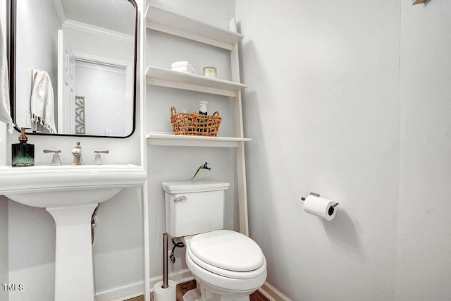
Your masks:
[[[138,6],[141,6],[140,1]],[[211,1],[151,1],[152,4],[171,9],[178,13],[228,28],[228,21],[235,15],[235,1],[212,4]],[[3,7],[2,7],[3,9]],[[173,61],[189,60],[202,74],[204,66],[216,66],[218,78],[230,78],[228,51],[219,51],[196,42],[173,39],[156,32],[148,32],[147,61],[154,66],[169,68]],[[161,48],[159,48],[161,47]],[[210,60],[211,59],[211,60]],[[198,102],[204,94],[194,92],[177,93],[175,91],[147,87],[147,128],[148,130],[171,130],[169,109],[175,105],[178,109],[197,111]],[[223,116],[220,135],[233,135],[233,104],[226,97],[209,97],[209,111],[219,111]],[[166,112],[166,113],[164,113]],[[140,111],[138,108],[137,116]],[[140,124],[138,118],[137,125]],[[72,162],[70,150],[76,141],[83,148],[85,163],[94,156],[92,151],[98,147],[107,148],[110,154],[103,157],[104,163],[140,164],[140,128],[127,139],[83,138],[83,137],[43,137],[30,135],[35,144],[36,161],[45,164],[51,159],[42,153],[42,149],[62,149],[63,164]],[[16,140],[8,137],[9,143]],[[226,191],[226,228],[237,225],[235,179],[235,149],[197,147],[147,147],[149,152],[149,241],[151,248],[151,277],[161,276],[161,235],[164,230],[164,202],[161,182],[165,180],[189,180],[200,164],[208,161],[211,171],[202,171],[199,179],[224,180],[230,183]],[[91,157],[92,156],[92,157]],[[11,164],[11,152],[7,154],[7,164]],[[99,209],[99,224],[96,227],[94,252],[94,280],[99,295],[105,296],[113,290],[140,293],[143,279],[142,260],[142,212],[141,197],[138,190],[123,190]],[[54,229],[51,216],[44,209],[30,209],[9,201],[9,278],[11,282],[25,283],[30,289],[10,295],[10,300],[33,299],[50,300],[54,291]],[[11,217],[13,216],[13,217]],[[27,248],[19,248],[20,243]],[[171,273],[186,268],[184,250],[175,253],[177,262],[170,266]],[[39,281],[37,281],[39,279]],[[43,285],[45,283],[45,285]]]

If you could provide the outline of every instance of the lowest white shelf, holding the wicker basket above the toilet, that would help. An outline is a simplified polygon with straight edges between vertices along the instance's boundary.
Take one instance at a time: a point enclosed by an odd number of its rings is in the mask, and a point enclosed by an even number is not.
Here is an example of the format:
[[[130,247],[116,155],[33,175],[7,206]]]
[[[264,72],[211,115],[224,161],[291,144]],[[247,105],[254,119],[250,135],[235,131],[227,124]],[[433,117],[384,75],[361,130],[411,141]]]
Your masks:
[[[171,132],[150,132],[146,135],[147,145],[185,146],[185,147],[239,147],[240,142],[251,141],[250,138],[206,137],[174,135]]]

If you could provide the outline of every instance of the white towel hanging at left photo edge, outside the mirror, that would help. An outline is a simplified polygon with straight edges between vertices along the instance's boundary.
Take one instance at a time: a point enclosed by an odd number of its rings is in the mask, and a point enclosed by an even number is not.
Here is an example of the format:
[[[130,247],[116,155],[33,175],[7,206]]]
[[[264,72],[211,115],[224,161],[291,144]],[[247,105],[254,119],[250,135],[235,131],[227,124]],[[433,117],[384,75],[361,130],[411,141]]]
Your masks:
[[[0,22],[0,121],[8,125],[8,133],[13,133],[13,118],[9,106],[8,61],[6,60],[6,42]]]

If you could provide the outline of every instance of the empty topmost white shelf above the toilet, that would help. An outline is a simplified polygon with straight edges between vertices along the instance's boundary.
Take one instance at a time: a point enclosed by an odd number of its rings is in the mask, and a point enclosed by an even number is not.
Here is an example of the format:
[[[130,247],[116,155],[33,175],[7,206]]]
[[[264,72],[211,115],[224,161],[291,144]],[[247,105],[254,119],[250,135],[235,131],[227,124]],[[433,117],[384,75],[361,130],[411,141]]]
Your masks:
[[[229,51],[232,51],[234,45],[244,37],[237,32],[209,25],[152,5],[147,6],[146,25],[152,30],[192,39]]]

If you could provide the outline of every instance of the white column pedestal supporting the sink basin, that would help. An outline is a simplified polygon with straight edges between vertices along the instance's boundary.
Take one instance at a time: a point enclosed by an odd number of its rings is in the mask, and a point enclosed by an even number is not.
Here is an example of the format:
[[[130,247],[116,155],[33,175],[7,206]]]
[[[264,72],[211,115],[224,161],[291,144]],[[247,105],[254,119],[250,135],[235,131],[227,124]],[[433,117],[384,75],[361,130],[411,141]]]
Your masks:
[[[46,208],[56,224],[55,300],[94,300],[91,217],[96,207]]]

